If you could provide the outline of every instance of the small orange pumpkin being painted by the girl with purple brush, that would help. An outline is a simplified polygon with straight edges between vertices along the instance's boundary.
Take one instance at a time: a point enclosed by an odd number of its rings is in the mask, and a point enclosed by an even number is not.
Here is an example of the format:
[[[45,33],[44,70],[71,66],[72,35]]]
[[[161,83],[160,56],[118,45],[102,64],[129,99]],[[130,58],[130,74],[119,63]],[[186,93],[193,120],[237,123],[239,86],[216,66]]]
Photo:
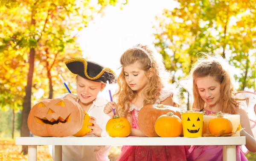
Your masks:
[[[108,121],[106,132],[111,137],[126,137],[131,133],[131,124],[126,118],[115,115]]]

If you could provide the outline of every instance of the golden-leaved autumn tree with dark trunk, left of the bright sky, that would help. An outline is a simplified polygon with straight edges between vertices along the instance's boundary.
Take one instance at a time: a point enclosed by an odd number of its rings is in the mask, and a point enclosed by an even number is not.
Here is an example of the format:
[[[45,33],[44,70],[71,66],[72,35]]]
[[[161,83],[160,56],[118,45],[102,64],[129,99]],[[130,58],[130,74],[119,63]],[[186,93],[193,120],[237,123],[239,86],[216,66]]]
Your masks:
[[[115,0],[2,0],[0,2],[1,101],[22,106],[21,136],[29,136],[27,118],[31,101],[41,93],[60,90],[57,79],[65,72],[63,61],[81,57],[78,32]],[[126,2],[125,2],[126,3]],[[70,76],[66,75],[68,79]],[[48,85],[47,85],[48,84]],[[20,93],[17,94],[17,92]],[[6,95],[8,93],[8,95]],[[45,98],[45,95],[43,96]],[[4,102],[4,101],[3,101]],[[22,104],[22,105],[21,105]],[[23,146],[24,154],[27,147]]]

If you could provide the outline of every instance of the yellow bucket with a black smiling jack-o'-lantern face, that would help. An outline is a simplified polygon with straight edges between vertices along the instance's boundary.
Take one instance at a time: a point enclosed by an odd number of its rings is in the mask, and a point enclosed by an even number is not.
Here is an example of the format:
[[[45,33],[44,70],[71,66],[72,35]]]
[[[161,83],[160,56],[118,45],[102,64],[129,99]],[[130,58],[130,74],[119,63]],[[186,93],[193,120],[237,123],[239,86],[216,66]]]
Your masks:
[[[184,137],[196,138],[202,136],[203,112],[186,111],[181,113]]]

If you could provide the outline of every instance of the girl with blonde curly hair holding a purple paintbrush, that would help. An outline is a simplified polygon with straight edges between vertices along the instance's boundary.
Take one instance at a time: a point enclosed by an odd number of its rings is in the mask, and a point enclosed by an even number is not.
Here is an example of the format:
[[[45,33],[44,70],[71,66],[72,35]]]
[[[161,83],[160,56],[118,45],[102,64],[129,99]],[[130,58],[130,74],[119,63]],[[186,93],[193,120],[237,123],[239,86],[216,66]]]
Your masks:
[[[109,102],[104,112],[113,117],[113,110],[131,124],[130,136],[145,137],[138,126],[138,113],[148,104],[179,106],[173,101],[173,86],[169,83],[163,57],[154,47],[138,44],[126,50],[120,58],[122,72],[117,78],[117,103]],[[117,109],[117,110],[116,110]],[[186,160],[186,146],[123,146],[118,161]]]

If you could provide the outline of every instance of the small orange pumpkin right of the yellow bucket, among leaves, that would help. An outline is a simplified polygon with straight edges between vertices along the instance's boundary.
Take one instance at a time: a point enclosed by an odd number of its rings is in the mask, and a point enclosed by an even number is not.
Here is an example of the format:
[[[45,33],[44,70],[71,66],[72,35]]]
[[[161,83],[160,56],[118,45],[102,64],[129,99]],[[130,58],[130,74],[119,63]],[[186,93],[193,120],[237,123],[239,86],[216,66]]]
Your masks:
[[[231,121],[224,117],[221,112],[216,113],[216,116],[209,121],[208,129],[211,134],[218,135],[224,130],[225,134],[231,133],[233,126]]]

